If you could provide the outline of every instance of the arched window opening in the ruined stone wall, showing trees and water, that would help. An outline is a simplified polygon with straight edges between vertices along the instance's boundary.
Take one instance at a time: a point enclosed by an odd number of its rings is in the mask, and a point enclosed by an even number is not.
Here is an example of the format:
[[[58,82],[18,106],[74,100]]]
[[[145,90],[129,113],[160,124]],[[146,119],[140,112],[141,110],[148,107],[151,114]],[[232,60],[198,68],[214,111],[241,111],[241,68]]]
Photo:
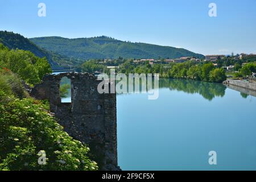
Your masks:
[[[71,102],[71,80],[68,77],[60,80],[60,98],[62,103]]]

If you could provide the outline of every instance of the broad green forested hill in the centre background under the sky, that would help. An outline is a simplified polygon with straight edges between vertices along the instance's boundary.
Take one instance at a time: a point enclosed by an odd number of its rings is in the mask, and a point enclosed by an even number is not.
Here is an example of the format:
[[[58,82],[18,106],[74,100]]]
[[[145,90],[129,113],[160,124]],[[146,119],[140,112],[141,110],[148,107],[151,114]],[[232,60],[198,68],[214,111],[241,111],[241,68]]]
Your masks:
[[[30,40],[44,49],[76,59],[118,59],[119,56],[125,59],[158,59],[159,57],[175,59],[182,56],[204,57],[201,54],[183,48],[123,42],[107,36],[78,39],[50,36],[32,38]]]

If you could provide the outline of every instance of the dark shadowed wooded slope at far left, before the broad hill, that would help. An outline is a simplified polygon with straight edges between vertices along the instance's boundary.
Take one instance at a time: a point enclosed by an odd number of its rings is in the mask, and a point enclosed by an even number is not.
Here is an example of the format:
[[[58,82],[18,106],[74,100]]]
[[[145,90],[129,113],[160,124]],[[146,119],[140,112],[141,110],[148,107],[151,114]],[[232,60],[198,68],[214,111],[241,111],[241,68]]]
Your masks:
[[[25,51],[30,51],[38,57],[46,57],[49,64],[56,65],[56,63],[51,59],[51,53],[36,46],[35,43],[31,42],[29,39],[24,38],[20,34],[15,34],[14,32],[0,31],[0,43],[7,46],[9,49],[23,49]]]

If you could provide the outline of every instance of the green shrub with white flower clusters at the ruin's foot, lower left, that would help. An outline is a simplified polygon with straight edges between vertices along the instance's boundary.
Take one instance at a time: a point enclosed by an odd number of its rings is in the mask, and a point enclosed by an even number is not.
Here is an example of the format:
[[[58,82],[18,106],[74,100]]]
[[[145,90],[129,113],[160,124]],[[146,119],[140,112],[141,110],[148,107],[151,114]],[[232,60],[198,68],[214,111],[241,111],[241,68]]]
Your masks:
[[[0,88],[0,170],[98,169],[89,148],[69,137],[47,110],[47,103],[19,100]],[[39,164],[40,152],[46,163]]]

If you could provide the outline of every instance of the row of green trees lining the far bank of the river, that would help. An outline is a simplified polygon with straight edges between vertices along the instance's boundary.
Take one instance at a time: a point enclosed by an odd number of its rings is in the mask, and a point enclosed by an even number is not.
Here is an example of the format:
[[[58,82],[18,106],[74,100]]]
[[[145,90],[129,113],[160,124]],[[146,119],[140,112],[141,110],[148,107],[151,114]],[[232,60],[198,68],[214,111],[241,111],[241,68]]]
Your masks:
[[[132,60],[125,59],[123,63],[117,65],[118,67],[115,68],[115,71],[118,73],[159,73],[159,76],[163,78],[188,78],[210,82],[222,82],[226,79],[224,69],[215,68],[212,63],[197,64],[187,61],[185,63],[150,64],[145,61],[141,64],[135,64]],[[109,69],[107,69],[106,65],[99,64],[97,60],[86,61],[81,68],[83,72],[94,73],[99,71],[109,74]]]

